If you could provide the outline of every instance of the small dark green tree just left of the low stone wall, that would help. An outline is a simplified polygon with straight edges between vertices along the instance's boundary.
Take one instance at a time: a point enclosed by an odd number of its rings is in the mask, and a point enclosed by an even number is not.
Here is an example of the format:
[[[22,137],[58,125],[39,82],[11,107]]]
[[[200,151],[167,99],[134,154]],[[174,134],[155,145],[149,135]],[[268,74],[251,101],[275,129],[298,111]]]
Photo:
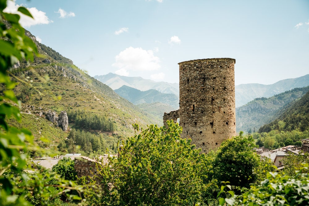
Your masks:
[[[57,172],[64,179],[76,180],[76,171],[74,169],[74,160],[71,158],[63,158],[53,166],[53,172]]]

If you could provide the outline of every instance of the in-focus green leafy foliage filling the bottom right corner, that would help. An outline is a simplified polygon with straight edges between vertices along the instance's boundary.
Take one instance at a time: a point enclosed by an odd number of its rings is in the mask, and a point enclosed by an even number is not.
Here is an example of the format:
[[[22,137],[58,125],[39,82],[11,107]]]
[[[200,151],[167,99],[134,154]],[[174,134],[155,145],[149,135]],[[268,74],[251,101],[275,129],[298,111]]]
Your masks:
[[[231,198],[221,198],[219,205],[308,205],[309,204],[309,175],[302,170],[308,169],[308,164],[296,171],[295,176],[281,175],[277,172],[269,172],[267,178],[257,187],[241,195],[235,195],[228,191]],[[223,191],[225,187],[222,187]]]

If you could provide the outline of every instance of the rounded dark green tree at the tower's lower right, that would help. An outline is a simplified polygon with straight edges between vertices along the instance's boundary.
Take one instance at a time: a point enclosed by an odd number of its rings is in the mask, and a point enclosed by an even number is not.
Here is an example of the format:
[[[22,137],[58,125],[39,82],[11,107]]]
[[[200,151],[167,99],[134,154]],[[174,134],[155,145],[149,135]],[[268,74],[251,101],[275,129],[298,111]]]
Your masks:
[[[257,180],[257,174],[253,171],[260,166],[260,158],[252,151],[255,147],[252,136],[232,137],[222,142],[212,166],[214,168],[213,178],[229,181],[234,186],[249,188],[251,183]]]

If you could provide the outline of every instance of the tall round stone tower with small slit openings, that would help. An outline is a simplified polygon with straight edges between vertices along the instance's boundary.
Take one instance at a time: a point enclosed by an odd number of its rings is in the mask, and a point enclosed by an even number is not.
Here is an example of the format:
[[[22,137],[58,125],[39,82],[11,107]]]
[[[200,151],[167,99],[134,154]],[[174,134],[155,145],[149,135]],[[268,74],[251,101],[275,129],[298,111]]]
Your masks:
[[[181,137],[202,153],[236,134],[234,65],[231,58],[179,63]]]

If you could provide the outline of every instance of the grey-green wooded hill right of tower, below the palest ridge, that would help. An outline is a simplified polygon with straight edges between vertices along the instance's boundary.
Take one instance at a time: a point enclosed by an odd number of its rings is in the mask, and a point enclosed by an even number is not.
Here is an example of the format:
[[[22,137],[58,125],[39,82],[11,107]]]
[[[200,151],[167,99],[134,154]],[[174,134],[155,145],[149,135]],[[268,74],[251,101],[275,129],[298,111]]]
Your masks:
[[[294,88],[270,98],[256,98],[236,108],[236,131],[257,131],[262,125],[276,119],[285,106],[301,98],[308,90],[309,86]]]

